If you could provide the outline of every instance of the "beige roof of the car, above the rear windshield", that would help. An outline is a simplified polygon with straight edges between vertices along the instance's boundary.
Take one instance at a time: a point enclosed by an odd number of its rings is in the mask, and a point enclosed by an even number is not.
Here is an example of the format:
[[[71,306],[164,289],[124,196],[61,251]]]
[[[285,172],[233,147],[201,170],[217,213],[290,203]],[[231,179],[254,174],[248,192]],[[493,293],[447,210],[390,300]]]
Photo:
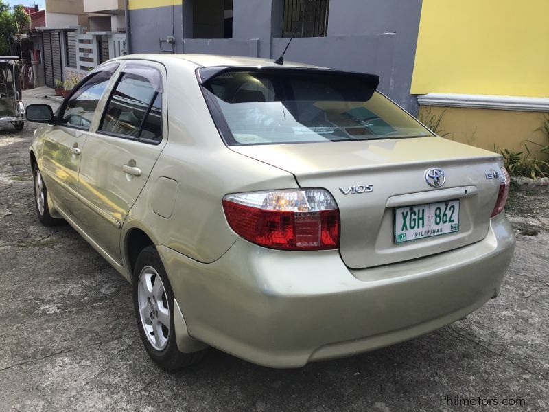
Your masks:
[[[152,60],[156,62],[168,62],[174,59],[187,60],[194,63],[197,67],[281,67],[274,63],[272,59],[244,57],[244,56],[222,56],[220,54],[129,54],[122,58],[139,58],[143,60]],[[306,65],[304,63],[284,62],[284,67],[317,67]]]

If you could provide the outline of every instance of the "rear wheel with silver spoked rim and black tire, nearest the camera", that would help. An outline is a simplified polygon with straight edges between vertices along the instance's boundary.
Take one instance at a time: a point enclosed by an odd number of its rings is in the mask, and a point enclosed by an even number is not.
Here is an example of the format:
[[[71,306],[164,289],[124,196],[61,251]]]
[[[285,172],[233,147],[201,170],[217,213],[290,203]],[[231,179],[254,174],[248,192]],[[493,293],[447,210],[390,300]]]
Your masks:
[[[154,363],[161,369],[173,371],[200,361],[206,350],[188,354],[178,350],[174,293],[156,247],[145,247],[139,253],[133,271],[132,291],[137,328]]]

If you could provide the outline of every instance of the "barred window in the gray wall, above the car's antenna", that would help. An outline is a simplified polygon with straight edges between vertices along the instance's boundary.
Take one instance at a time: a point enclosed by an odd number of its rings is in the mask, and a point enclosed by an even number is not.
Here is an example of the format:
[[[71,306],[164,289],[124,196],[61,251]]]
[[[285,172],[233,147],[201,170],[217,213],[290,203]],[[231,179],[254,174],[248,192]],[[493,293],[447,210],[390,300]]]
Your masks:
[[[283,37],[325,37],[329,0],[284,0]]]

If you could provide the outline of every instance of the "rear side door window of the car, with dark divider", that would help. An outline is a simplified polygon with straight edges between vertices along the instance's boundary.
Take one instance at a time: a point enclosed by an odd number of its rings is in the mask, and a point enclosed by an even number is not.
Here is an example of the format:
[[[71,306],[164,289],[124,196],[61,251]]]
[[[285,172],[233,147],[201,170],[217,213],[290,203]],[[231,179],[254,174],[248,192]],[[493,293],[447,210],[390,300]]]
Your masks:
[[[157,143],[162,139],[162,93],[135,73],[124,73],[110,95],[100,133]]]

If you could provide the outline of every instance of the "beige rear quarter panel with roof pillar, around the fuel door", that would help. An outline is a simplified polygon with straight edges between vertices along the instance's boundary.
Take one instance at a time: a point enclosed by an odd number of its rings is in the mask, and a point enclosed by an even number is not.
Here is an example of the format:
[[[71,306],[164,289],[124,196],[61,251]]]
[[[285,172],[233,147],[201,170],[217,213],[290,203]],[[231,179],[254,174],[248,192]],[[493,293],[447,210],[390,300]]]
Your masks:
[[[227,225],[222,198],[225,194],[297,187],[288,172],[237,154],[227,148],[211,119],[198,86],[196,65],[180,60],[165,64],[170,140],[124,221],[121,249],[131,229],[139,228],[156,245],[165,245],[200,262],[213,262],[238,238]],[[157,184],[163,176],[176,185],[170,218],[158,211]],[[172,205],[173,203],[173,205]]]

